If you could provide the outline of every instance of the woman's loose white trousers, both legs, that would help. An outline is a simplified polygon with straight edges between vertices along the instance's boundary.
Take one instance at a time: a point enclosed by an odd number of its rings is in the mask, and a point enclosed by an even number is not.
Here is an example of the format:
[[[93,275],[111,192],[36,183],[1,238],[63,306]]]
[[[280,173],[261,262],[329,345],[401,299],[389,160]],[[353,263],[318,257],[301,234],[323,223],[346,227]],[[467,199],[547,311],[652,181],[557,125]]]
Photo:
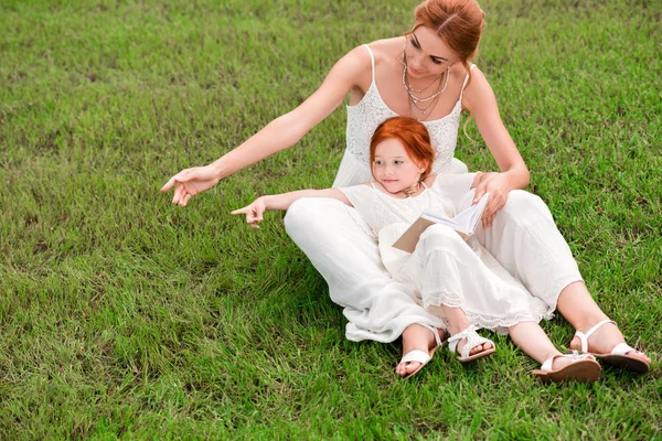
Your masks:
[[[344,308],[349,340],[392,342],[414,323],[446,327],[415,300],[414,287],[389,277],[356,209],[331,198],[301,198],[288,209],[285,227],[329,283],[331,300]],[[523,190],[509,194],[492,226],[479,227],[477,237],[534,297],[554,309],[560,291],[581,280],[549,209]]]

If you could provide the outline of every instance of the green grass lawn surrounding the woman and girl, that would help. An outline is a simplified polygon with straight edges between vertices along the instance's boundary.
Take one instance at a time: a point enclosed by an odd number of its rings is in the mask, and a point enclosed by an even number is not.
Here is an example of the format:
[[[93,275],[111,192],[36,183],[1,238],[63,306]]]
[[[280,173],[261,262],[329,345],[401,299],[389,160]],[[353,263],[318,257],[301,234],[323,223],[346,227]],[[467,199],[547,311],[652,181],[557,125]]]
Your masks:
[[[412,380],[341,309],[265,192],[325,187],[341,108],[172,206],[158,192],[305,99],[414,1],[0,3],[0,439],[662,438],[662,4],[484,1],[477,64],[587,284],[644,376],[543,386],[506,337]],[[469,135],[480,139],[472,123]],[[484,143],[457,157],[493,170]],[[560,347],[573,329],[544,327]]]

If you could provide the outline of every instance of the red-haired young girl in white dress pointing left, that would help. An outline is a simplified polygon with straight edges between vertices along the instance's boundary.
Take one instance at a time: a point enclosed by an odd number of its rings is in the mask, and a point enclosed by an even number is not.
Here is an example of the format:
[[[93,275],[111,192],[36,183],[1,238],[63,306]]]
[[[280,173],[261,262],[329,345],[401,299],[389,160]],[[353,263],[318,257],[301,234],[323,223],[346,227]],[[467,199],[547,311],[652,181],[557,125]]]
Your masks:
[[[467,205],[460,198],[469,193],[474,175],[431,174],[434,159],[425,126],[413,118],[389,118],[371,139],[375,182],[263,196],[232,214],[245,214],[248,225],[257,228],[265,211],[287,209],[301,197],[341,201],[365,218],[393,279],[415,287],[416,300],[445,321],[451,334],[449,348],[459,354],[460,362],[494,352],[493,342],[476,332],[485,327],[510,333],[524,352],[542,363],[534,373],[545,380],[596,380],[600,365],[591,355],[560,354],[537,324],[551,318],[554,305],[531,295],[474,237],[465,241],[449,227],[433,225],[421,234],[413,254],[393,248],[424,209],[452,217]],[[419,363],[413,375],[429,362],[435,349],[412,351],[401,365]]]

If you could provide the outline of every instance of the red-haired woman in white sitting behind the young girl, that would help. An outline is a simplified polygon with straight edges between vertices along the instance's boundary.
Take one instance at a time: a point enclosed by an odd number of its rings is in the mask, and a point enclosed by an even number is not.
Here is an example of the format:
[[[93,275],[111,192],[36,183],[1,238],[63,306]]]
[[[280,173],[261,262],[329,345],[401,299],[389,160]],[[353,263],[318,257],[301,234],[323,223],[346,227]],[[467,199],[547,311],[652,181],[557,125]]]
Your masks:
[[[626,345],[616,324],[594,302],[545,204],[522,191],[528,170],[501,121],[487,78],[469,64],[483,24],[484,14],[473,0],[424,1],[405,36],[350,51],[299,107],[215,162],[175,174],[162,191],[177,184],[172,202],[185,206],[193,195],[237,170],[293,146],[348,93],[348,149],[333,186],[370,179],[370,138],[383,120],[397,115],[428,128],[437,150],[435,173],[466,172],[452,153],[460,112],[469,110],[500,169],[478,173],[473,181],[477,198],[491,194],[478,232],[480,243],[533,295],[570,322],[577,330],[572,348],[609,354],[608,362],[645,372],[650,359]],[[302,198],[290,206],[286,228],[329,283],[331,299],[344,308],[348,338],[391,342],[402,335],[405,354],[435,346],[428,327],[444,323],[418,305],[406,286],[388,277],[354,209],[338,201]],[[396,370],[405,376],[419,367],[415,361],[402,362]]]

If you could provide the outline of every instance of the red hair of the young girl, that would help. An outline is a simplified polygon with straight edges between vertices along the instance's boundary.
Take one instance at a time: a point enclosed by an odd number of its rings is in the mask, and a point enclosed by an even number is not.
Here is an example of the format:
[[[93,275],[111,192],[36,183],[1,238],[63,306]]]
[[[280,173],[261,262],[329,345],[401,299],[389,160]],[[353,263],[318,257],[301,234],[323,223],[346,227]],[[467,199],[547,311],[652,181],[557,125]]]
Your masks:
[[[375,162],[375,149],[387,139],[397,139],[412,160],[416,162],[427,161],[427,168],[420,175],[421,181],[433,172],[436,151],[430,143],[430,133],[420,121],[409,117],[393,117],[377,126],[370,140],[371,164]]]

